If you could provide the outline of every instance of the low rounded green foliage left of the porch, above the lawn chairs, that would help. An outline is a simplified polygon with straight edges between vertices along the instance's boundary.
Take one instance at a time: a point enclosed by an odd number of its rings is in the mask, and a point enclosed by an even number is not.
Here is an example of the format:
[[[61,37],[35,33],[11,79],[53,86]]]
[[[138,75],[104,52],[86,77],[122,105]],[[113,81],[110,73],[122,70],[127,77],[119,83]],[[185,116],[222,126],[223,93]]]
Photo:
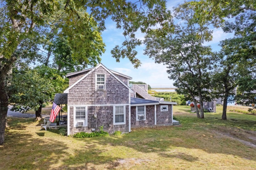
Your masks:
[[[52,101],[55,93],[62,92],[64,79],[46,66],[14,70],[12,76],[9,92],[15,111],[37,110],[43,103]]]

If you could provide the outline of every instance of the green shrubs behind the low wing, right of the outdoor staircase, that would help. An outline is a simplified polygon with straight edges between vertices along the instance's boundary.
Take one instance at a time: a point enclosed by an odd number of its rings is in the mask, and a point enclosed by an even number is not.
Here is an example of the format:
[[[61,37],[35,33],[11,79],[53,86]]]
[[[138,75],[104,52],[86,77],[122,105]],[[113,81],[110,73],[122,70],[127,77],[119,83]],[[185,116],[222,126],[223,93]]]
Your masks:
[[[186,104],[184,95],[180,95],[176,92],[157,92],[154,94],[154,97],[164,98],[165,101],[170,101],[170,97],[172,97],[172,102],[177,102],[177,105]]]

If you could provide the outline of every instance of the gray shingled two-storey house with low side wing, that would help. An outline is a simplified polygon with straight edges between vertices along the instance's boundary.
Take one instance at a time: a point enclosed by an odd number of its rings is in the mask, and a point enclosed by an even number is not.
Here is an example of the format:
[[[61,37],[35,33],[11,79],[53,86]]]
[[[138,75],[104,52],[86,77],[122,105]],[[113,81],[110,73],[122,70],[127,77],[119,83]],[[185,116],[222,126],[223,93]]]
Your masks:
[[[68,135],[98,131],[102,125],[110,134],[116,130],[127,133],[133,127],[172,125],[172,105],[176,102],[141,99],[144,94],[135,98],[133,88],[129,87],[132,78],[103,64],[66,77]]]

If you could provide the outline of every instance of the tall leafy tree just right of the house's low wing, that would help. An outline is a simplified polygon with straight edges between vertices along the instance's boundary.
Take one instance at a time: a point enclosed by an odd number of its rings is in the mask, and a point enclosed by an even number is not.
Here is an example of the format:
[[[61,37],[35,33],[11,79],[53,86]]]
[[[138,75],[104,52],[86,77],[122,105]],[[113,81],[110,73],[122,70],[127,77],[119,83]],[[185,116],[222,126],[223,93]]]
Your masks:
[[[159,29],[146,35],[144,54],[167,65],[169,78],[175,80],[175,86],[189,92],[192,98],[199,97],[200,118],[204,118],[203,101],[209,100],[213,57],[211,47],[203,43],[212,40],[212,31],[207,25],[197,23],[188,3],[175,8],[173,16],[178,23],[172,25],[170,21],[169,28],[163,27],[169,30],[166,35]]]

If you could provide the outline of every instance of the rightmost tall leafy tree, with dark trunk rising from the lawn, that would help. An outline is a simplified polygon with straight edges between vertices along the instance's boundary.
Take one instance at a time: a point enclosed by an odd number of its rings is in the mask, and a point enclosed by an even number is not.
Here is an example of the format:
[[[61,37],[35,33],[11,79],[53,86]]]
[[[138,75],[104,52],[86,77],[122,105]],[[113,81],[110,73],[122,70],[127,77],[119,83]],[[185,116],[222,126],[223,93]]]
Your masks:
[[[222,60],[222,85],[226,90],[219,94],[224,99],[222,119],[226,119],[226,99],[234,85],[238,85],[236,102],[249,105],[256,103],[256,2],[251,0],[193,1],[195,17],[199,23],[211,23],[216,28],[222,26],[225,33],[234,33],[233,38],[220,43],[221,53],[226,55]],[[233,21],[225,19],[233,18]],[[234,71],[236,70],[236,71]],[[219,74],[220,75],[220,74]],[[225,76],[226,75],[226,76]],[[231,90],[232,91],[232,90]],[[256,109],[256,107],[255,107]]]

